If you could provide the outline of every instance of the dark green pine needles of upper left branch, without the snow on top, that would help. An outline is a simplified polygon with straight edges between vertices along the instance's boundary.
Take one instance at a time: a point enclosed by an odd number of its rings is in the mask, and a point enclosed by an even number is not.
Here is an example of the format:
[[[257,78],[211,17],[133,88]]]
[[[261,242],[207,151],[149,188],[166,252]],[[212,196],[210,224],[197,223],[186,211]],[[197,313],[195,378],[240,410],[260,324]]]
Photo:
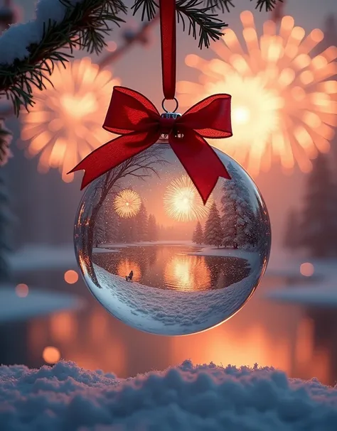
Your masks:
[[[33,87],[41,90],[46,87],[44,82],[53,72],[55,61],[64,65],[73,57],[75,46],[89,53],[100,53],[106,45],[104,37],[111,30],[108,23],[119,26],[124,20],[118,13],[127,11],[122,0],[82,0],[76,4],[72,0],[60,1],[65,7],[63,19],[44,23],[41,41],[28,44],[28,55],[24,58],[0,65],[0,94],[11,99],[16,115],[21,107],[28,109],[33,105]],[[65,47],[70,53],[62,50]]]

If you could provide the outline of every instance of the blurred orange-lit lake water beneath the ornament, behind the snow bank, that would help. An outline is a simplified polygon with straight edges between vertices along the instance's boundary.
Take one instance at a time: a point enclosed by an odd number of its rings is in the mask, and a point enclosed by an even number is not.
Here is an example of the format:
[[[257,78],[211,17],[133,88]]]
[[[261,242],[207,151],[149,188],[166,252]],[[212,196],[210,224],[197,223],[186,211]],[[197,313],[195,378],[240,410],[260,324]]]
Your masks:
[[[46,273],[46,282],[54,283],[55,290],[69,290],[63,274]],[[23,279],[30,286],[36,285],[33,276]],[[262,298],[263,293],[282,283],[285,286],[285,282],[265,276],[258,293],[225,324],[191,337],[171,338],[139,332],[114,319],[79,280],[71,290],[85,297],[87,309],[30,319],[20,327],[1,327],[2,336],[6,334],[8,340],[1,345],[1,361],[41,366],[43,349],[52,346],[65,360],[122,377],[191,359],[196,364],[213,361],[223,366],[253,366],[257,362],[282,369],[291,377],[316,376],[333,385],[337,380],[336,310],[304,310]],[[21,342],[24,349],[18,349]]]

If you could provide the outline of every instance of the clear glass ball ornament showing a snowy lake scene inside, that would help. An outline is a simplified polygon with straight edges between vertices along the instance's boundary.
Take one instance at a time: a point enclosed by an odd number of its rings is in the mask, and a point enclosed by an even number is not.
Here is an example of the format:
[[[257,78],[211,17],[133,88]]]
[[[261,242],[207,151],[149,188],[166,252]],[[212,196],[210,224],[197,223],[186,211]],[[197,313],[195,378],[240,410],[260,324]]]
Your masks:
[[[183,335],[225,322],[254,293],[269,258],[267,208],[245,170],[215,150],[231,180],[203,201],[166,143],[85,191],[75,253],[87,287],[117,319]]]

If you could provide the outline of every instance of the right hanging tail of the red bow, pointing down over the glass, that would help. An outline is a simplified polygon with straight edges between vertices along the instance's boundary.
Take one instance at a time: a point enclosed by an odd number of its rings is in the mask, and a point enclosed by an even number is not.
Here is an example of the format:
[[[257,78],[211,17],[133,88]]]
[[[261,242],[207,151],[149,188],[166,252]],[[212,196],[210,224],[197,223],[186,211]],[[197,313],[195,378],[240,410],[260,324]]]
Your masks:
[[[218,178],[230,180],[230,174],[213,148],[196,131],[187,129],[183,135],[182,139],[170,136],[171,148],[206,204]]]

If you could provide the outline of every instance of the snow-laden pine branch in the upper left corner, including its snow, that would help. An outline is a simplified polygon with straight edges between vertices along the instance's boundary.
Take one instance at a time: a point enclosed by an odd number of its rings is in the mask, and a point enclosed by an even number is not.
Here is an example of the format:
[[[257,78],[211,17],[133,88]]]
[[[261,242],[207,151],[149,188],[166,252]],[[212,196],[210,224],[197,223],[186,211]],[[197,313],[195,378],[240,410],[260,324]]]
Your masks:
[[[40,0],[35,20],[14,24],[0,37],[0,94],[16,114],[27,109],[33,87],[45,87],[55,61],[68,61],[75,46],[100,53],[109,23],[124,22],[119,13],[126,11],[122,0]]]

